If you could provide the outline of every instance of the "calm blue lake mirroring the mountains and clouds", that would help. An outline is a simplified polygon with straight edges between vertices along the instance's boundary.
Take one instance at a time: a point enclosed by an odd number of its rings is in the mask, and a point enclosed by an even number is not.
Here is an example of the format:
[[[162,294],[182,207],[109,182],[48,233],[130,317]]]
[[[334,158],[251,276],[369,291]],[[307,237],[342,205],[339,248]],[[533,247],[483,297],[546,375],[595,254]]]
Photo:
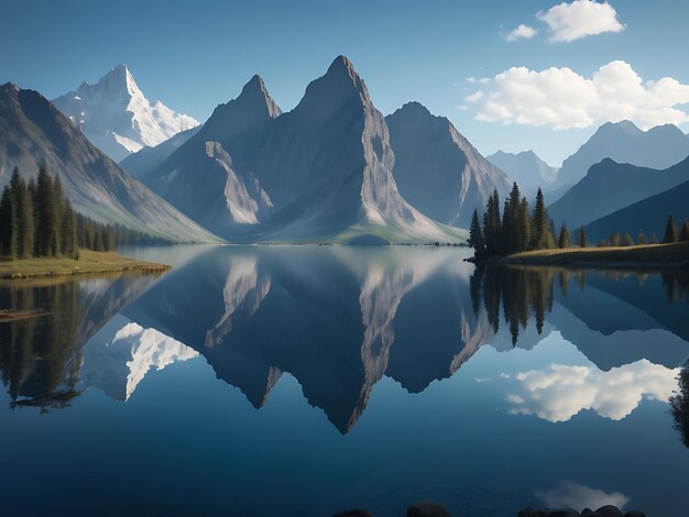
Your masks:
[[[687,515],[687,271],[128,252],[174,268],[0,287],[45,311],[0,324],[3,515]]]

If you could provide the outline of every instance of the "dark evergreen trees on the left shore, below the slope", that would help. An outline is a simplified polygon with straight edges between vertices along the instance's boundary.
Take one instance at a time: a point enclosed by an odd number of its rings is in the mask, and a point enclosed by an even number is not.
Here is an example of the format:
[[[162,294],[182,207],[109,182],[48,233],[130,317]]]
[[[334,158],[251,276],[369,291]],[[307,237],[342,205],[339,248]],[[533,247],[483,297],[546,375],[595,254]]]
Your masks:
[[[121,224],[102,224],[75,212],[59,176],[40,167],[25,182],[14,168],[0,197],[0,254],[78,258],[79,249],[112,251],[119,245],[161,241]]]

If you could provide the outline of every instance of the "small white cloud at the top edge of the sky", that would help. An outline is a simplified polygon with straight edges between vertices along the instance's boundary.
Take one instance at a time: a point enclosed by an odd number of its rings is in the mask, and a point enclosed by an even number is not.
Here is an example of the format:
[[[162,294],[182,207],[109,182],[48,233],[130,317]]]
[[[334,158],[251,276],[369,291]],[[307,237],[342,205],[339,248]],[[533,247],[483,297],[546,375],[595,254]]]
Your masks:
[[[538,12],[536,18],[548,25],[551,42],[571,42],[624,30],[624,25],[617,20],[617,12],[610,3],[592,0],[562,2],[546,12]]]

